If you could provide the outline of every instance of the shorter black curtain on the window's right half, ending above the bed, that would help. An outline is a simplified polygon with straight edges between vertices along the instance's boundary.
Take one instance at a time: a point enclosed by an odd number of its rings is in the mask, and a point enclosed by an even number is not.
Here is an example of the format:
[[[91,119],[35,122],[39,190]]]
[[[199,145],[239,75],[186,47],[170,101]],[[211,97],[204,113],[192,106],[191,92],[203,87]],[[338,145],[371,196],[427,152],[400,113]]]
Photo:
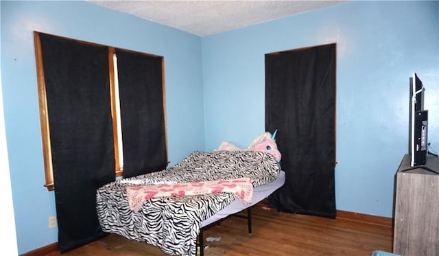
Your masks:
[[[117,49],[123,177],[167,165],[162,57]]]

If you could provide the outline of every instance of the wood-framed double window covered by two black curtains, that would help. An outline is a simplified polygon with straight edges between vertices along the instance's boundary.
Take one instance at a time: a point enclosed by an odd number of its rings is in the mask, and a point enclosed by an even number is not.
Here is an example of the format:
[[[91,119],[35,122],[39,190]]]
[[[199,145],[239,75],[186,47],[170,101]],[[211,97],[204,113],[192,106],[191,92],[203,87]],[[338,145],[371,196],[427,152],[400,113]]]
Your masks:
[[[34,40],[47,189],[54,169],[111,163],[128,177],[166,167],[163,57],[40,32]]]

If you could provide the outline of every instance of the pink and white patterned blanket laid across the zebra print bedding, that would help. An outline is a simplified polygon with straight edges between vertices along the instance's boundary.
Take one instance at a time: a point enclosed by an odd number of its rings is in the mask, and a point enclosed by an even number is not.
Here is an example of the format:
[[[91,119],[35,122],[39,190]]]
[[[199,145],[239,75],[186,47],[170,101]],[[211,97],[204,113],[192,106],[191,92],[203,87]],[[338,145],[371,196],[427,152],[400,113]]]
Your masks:
[[[233,180],[204,181],[193,183],[142,185],[126,188],[128,202],[132,211],[138,211],[143,203],[154,197],[195,196],[220,192],[233,193],[246,205],[252,202],[253,184],[249,177]]]

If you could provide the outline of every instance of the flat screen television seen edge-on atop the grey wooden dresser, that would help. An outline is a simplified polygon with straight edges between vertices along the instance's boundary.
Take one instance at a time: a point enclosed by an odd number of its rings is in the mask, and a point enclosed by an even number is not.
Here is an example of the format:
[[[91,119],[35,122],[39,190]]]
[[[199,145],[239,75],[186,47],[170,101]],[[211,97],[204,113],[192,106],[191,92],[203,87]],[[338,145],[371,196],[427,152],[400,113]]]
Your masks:
[[[423,82],[413,73],[410,78],[409,154],[412,167],[425,165],[427,159],[428,110],[424,109]]]

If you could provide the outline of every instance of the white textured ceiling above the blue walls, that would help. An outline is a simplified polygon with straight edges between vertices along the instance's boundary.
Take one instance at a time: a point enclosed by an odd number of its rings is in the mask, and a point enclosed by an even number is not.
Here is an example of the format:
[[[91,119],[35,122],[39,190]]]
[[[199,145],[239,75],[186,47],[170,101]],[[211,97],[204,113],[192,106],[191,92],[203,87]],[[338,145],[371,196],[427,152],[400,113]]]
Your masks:
[[[345,1],[106,0],[90,2],[191,34],[208,36]]]

